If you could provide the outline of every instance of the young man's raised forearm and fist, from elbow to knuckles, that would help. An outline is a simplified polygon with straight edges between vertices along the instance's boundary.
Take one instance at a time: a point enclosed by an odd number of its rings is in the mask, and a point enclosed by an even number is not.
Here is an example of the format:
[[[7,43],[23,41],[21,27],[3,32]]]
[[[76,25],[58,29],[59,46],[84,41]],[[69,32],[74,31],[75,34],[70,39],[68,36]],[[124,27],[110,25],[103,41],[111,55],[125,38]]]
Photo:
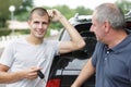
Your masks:
[[[48,10],[48,14],[52,21],[59,21],[64,26],[64,28],[67,29],[67,32],[71,37],[71,42],[73,47],[78,46],[76,48],[80,49],[85,46],[85,41],[83,40],[81,35],[78,33],[78,30],[69,23],[69,21],[58,10],[56,9]]]

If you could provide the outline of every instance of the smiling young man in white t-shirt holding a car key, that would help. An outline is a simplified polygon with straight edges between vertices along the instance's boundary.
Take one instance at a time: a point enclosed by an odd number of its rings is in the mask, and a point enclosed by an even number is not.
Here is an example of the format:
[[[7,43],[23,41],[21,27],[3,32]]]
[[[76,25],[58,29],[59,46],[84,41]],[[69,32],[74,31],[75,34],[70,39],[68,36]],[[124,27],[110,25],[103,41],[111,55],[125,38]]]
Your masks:
[[[59,21],[68,30],[70,41],[46,41],[44,36],[51,20]],[[56,54],[71,52],[85,46],[76,29],[69,24],[58,10],[35,8],[31,11],[28,25],[31,34],[26,38],[12,41],[0,59],[0,83],[7,87],[46,87],[37,71],[47,80],[52,59]]]

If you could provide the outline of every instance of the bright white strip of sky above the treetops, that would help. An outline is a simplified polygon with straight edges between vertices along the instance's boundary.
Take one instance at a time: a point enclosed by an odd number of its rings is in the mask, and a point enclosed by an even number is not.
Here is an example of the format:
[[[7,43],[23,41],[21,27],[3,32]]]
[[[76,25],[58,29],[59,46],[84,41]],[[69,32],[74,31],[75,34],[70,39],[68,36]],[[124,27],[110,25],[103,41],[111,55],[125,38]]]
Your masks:
[[[85,8],[90,8],[92,10],[95,9],[96,5],[104,2],[116,2],[116,0],[34,0],[34,4],[36,7],[47,5],[69,5],[71,9],[75,9],[76,7],[83,5]]]

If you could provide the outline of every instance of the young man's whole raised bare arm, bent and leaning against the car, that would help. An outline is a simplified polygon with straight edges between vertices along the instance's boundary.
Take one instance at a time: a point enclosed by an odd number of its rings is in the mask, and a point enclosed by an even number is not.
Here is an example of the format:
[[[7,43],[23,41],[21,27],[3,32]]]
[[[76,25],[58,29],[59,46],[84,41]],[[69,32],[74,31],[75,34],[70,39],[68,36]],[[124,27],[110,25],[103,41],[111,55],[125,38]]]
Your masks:
[[[69,23],[69,21],[58,11],[58,10],[50,10],[49,15],[55,21],[59,21],[67,32],[69,33],[71,40],[70,41],[62,41],[60,42],[60,51],[59,53],[67,53],[78,49],[81,49],[85,46],[85,41],[78,33],[78,30]]]

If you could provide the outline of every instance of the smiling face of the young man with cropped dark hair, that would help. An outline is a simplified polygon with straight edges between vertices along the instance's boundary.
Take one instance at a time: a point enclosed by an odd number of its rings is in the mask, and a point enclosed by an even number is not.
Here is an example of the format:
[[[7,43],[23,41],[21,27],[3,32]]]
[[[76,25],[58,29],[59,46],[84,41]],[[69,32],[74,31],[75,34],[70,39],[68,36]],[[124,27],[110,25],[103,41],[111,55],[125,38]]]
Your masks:
[[[32,36],[36,38],[44,38],[49,26],[49,17],[48,15],[39,16],[34,13],[32,20],[28,21],[28,25],[31,27]]]

